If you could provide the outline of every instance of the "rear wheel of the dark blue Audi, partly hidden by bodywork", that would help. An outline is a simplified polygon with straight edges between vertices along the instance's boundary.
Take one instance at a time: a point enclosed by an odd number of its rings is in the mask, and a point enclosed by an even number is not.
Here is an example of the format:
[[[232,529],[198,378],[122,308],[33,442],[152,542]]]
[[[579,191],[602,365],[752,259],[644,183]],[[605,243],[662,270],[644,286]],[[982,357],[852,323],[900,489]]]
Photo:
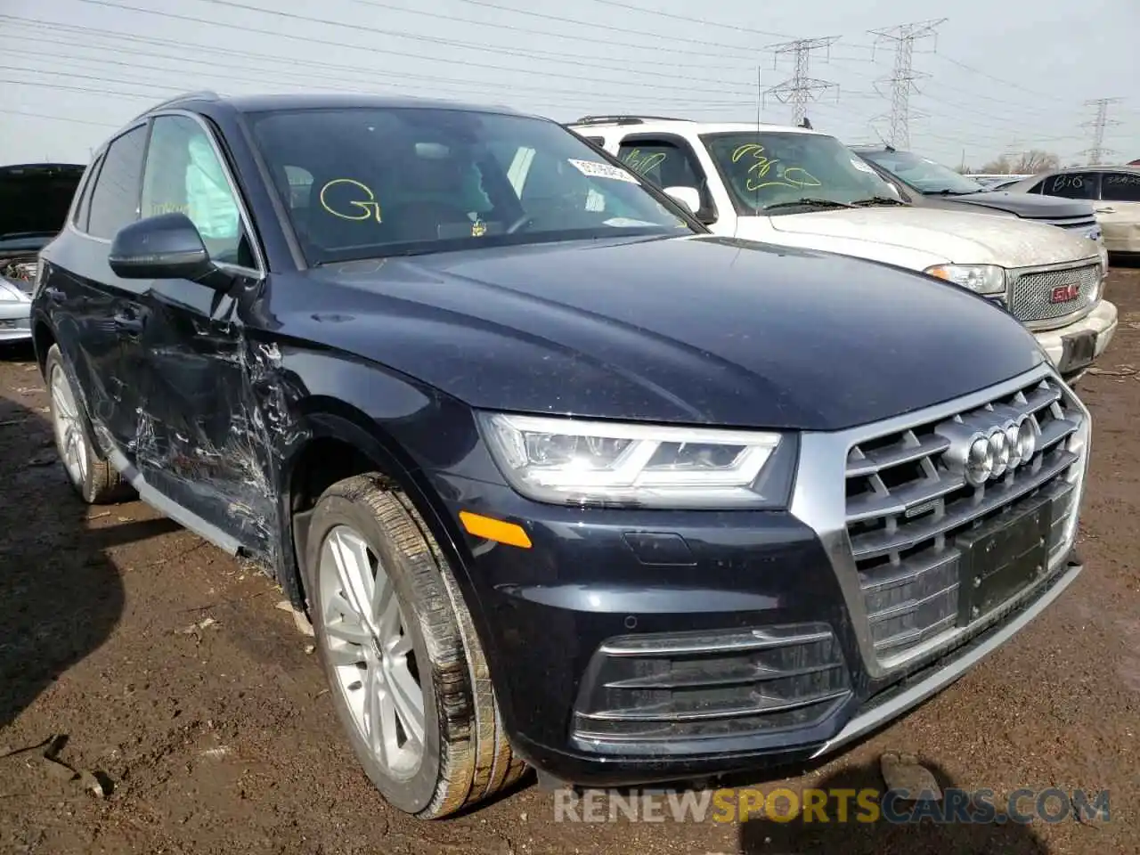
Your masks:
[[[48,350],[44,374],[56,451],[72,487],[90,505],[129,498],[132,494],[130,484],[91,442],[87,414],[72,389],[58,344],[52,344]]]

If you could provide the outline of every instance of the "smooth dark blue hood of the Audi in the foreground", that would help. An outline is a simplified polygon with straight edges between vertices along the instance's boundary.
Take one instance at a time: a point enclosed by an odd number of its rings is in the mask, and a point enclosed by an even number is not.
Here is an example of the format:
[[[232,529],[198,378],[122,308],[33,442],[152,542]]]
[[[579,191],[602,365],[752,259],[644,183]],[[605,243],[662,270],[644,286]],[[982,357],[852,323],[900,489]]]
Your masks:
[[[275,308],[282,333],[480,408],[832,430],[1043,358],[1010,315],[963,288],[711,236],[486,247],[296,278],[306,308]]]

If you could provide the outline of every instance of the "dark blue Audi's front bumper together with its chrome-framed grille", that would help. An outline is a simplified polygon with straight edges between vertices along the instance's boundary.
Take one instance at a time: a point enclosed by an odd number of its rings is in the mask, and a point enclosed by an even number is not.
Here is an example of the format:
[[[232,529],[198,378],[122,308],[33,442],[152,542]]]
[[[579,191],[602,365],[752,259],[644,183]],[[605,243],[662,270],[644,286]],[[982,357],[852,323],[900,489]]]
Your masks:
[[[971,487],[946,425],[1032,421]],[[947,433],[948,430],[948,433]],[[1048,365],[948,404],[805,433],[787,512],[571,508],[441,477],[532,548],[469,539],[514,748],[585,785],[808,760],[956,679],[1081,572],[1090,420]],[[997,556],[997,557],[993,557]]]

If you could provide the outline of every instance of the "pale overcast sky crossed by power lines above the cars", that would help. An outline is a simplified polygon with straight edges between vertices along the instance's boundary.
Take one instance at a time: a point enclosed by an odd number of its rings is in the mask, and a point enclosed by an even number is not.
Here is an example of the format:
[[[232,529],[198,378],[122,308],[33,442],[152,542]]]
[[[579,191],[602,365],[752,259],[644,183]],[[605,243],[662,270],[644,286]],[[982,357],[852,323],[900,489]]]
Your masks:
[[[896,44],[872,31],[925,22],[912,150],[953,166],[1029,148],[1085,163],[1085,101],[1121,98],[1108,160],[1140,157],[1140,0],[0,0],[0,163],[87,163],[131,116],[197,89],[790,123],[764,91],[795,72],[774,46],[816,38],[833,40],[808,76],[834,85],[808,105],[813,127],[878,141]]]

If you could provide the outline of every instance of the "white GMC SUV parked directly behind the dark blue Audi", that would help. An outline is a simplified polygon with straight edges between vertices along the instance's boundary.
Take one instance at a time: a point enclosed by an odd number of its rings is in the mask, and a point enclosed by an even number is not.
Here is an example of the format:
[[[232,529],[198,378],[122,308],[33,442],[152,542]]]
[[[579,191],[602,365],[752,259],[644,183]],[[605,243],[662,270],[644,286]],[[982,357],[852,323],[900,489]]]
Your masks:
[[[568,127],[714,234],[882,261],[1002,301],[1066,378],[1083,374],[1116,332],[1097,243],[1053,226],[909,205],[825,133],[650,116]]]

